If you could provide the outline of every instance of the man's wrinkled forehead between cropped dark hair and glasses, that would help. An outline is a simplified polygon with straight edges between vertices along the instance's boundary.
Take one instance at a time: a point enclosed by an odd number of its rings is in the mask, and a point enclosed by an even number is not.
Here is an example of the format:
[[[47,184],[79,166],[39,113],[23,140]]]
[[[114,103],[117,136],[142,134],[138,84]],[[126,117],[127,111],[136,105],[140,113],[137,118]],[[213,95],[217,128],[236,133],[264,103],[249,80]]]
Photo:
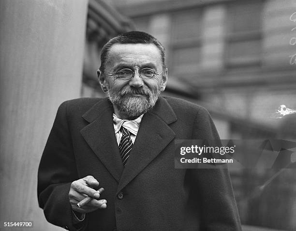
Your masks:
[[[154,44],[114,44],[108,52],[107,64],[119,62],[135,66],[151,62],[162,66],[161,52]]]

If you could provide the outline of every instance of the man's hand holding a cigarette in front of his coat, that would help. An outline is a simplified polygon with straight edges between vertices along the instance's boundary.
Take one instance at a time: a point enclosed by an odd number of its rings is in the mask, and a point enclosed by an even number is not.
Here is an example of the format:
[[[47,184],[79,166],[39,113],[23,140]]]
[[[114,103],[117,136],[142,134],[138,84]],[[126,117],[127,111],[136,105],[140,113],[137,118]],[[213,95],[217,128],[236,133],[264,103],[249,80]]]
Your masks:
[[[99,200],[100,193],[94,189],[98,187],[99,182],[93,176],[86,176],[72,182],[69,191],[69,200],[72,209],[82,214],[90,213],[96,209],[105,209],[107,207],[107,200]],[[77,203],[88,196],[93,199],[79,208]]]

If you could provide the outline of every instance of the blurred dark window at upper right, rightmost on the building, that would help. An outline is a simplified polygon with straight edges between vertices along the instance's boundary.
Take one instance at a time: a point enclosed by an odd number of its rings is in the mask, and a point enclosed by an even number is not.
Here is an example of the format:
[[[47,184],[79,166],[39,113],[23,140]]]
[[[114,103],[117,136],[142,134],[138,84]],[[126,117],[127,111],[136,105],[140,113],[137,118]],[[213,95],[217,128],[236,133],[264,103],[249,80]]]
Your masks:
[[[260,66],[262,5],[261,0],[228,4],[226,67]]]

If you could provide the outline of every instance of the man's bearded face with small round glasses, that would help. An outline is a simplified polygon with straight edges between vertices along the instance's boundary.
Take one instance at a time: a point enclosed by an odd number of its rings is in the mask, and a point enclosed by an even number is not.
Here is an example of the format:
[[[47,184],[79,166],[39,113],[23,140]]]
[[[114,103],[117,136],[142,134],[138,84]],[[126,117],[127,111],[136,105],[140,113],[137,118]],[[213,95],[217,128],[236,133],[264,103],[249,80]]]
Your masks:
[[[122,80],[117,73],[126,68],[133,70],[134,75]],[[153,69],[155,75],[149,79],[140,77],[142,68]],[[113,45],[108,52],[105,73],[100,77],[115,108],[129,119],[146,113],[155,105],[166,80],[167,70],[163,70],[160,51],[154,44]]]

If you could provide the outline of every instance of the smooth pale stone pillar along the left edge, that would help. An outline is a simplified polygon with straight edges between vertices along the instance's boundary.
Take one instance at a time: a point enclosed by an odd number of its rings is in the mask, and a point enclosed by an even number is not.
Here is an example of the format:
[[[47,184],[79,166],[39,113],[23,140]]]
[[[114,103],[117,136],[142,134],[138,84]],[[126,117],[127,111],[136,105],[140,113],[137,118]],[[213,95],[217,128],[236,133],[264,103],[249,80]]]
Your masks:
[[[80,96],[87,5],[0,1],[1,222],[62,230],[38,206],[37,169],[59,104]]]

